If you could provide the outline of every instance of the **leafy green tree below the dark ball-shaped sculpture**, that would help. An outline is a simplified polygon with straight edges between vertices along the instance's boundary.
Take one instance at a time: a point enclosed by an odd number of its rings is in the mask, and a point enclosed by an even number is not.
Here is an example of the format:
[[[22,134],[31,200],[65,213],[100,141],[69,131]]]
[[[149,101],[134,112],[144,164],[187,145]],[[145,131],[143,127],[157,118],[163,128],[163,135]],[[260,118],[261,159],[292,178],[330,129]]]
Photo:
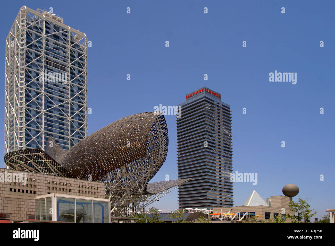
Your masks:
[[[291,210],[294,211],[294,215],[286,214],[286,217],[292,219],[292,222],[302,222],[304,219],[305,222],[310,222],[311,217],[316,215],[316,211],[310,210],[311,207],[307,203],[307,199],[303,200],[298,196],[298,202],[290,201],[288,204]]]

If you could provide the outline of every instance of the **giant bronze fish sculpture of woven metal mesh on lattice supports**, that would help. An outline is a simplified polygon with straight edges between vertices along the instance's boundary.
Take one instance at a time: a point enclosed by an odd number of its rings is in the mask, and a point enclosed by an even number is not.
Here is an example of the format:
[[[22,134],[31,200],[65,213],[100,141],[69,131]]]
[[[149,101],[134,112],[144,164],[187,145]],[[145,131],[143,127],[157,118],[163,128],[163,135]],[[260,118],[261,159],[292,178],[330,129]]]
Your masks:
[[[145,207],[189,179],[148,183],[165,161],[169,146],[164,115],[133,114],[92,133],[69,151],[52,137],[45,151],[25,149],[5,155],[15,170],[100,181],[112,213],[145,214]],[[117,210],[116,210],[117,209]]]

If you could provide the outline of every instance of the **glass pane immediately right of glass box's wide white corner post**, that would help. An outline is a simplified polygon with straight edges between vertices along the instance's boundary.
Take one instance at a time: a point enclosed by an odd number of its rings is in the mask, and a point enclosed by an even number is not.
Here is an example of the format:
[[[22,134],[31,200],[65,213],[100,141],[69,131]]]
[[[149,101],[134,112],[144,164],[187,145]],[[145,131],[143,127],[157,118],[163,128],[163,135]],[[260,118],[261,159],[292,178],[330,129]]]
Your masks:
[[[57,221],[74,222],[74,198],[57,197]]]

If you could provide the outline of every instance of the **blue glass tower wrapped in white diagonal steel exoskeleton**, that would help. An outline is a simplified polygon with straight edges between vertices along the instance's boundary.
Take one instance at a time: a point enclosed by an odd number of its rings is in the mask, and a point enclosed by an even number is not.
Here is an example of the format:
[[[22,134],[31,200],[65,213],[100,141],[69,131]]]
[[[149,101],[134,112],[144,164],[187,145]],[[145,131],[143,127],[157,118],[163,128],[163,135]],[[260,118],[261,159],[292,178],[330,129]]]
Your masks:
[[[6,38],[5,153],[87,136],[87,37],[23,6]]]

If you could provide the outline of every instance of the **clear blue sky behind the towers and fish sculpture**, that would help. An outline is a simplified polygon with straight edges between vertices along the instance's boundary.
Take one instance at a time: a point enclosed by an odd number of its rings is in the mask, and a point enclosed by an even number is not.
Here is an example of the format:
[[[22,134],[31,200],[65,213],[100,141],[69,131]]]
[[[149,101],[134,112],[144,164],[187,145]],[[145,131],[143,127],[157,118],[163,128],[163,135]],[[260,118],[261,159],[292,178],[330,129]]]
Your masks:
[[[334,2],[5,1],[3,56],[5,38],[23,5],[53,7],[65,24],[92,41],[89,134],[127,114],[153,111],[160,103],[178,105],[185,94],[206,86],[231,106],[234,170],[258,173],[257,185],[235,183],[235,206],[243,205],[253,190],[266,199],[294,183],[318,212],[316,218],[335,207]],[[269,82],[275,70],[297,73],[297,83]],[[165,180],[166,174],[177,178],[176,120],[165,118],[169,152],[153,182]],[[153,206],[176,209],[177,190]]]

